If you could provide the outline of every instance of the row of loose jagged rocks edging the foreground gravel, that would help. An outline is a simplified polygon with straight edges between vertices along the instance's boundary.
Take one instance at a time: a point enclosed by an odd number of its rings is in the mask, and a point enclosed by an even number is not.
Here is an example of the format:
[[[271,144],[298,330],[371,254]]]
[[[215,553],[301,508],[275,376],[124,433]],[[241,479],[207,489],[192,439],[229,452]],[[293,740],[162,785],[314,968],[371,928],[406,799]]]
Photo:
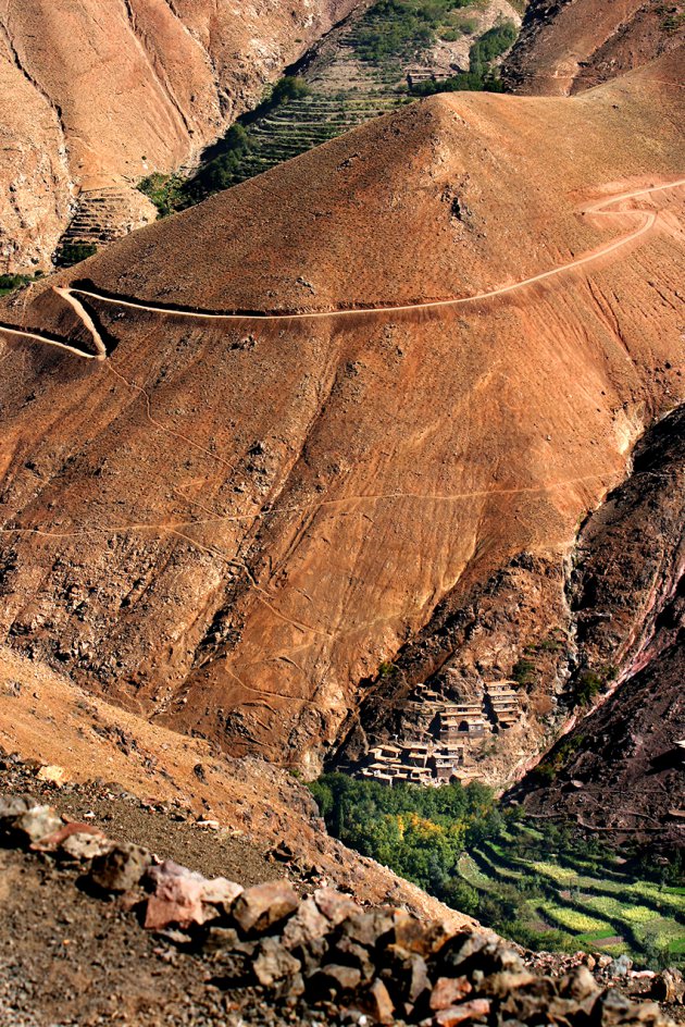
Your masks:
[[[450,932],[402,910],[364,910],[329,888],[287,881],[244,889],[66,821],[29,795],[0,797],[0,843],[76,865],[80,886],[119,902],[144,928],[202,961],[205,979],[251,989],[270,1006],[335,1024],[454,1027],[669,1022],[653,1003],[602,990],[586,966],[553,978],[526,968],[488,932]],[[260,1000],[261,1001],[261,1000]]]

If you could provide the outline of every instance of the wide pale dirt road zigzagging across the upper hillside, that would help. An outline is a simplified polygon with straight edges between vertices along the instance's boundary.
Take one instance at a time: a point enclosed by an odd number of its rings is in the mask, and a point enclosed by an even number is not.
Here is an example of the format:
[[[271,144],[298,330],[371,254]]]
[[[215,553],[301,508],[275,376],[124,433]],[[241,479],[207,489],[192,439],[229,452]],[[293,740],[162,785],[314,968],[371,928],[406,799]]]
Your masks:
[[[615,252],[615,250],[622,249],[623,247],[630,245],[631,243],[638,239],[640,236],[646,235],[650,232],[659,219],[659,213],[653,210],[622,210],[614,211],[608,210],[607,208],[614,207],[616,203],[625,202],[626,200],[637,199],[640,196],[650,196],[655,193],[662,193],[667,189],[676,189],[681,186],[685,186],[685,178],[678,178],[675,182],[668,182],[662,185],[653,185],[644,189],[635,189],[631,193],[622,193],[619,196],[612,196],[607,199],[598,200],[597,202],[583,209],[582,213],[584,215],[603,215],[603,216],[626,216],[630,214],[635,214],[640,218],[640,224],[633,232],[630,232],[627,235],[621,236],[619,239],[614,239],[611,243],[607,243],[603,246],[594,249],[591,252],[586,253],[583,257],[578,257],[575,260],[571,260],[565,264],[560,264],[557,268],[552,268],[549,271],[543,271],[539,274],[533,275],[528,279],[522,279],[519,282],[513,282],[510,285],[502,285],[495,289],[488,289],[484,293],[476,293],[473,296],[462,296],[462,297],[451,297],[449,299],[437,299],[437,300],[425,300],[414,304],[403,304],[397,306],[378,306],[378,307],[350,307],[350,308],[339,308],[334,310],[315,310],[315,311],[306,311],[302,313],[269,313],[269,312],[250,312],[250,313],[212,313],[203,312],[196,310],[183,310],[174,307],[164,307],[161,304],[150,306],[146,305],[142,301],[135,299],[123,299],[115,296],[105,296],[102,293],[95,290],[77,288],[73,286],[53,286],[54,292],[61,296],[65,302],[74,309],[84,326],[88,330],[94,345],[95,352],[89,354],[85,350],[78,349],[75,346],[70,346],[67,343],[57,342],[55,339],[49,338],[46,335],[41,335],[37,332],[28,332],[22,329],[15,327],[13,325],[0,324],[0,332],[4,332],[10,335],[15,335],[24,338],[32,339],[34,342],[42,343],[47,346],[55,346],[59,349],[66,350],[77,357],[80,357],[85,360],[97,360],[103,361],[107,360],[108,352],[92,318],[80,302],[77,299],[77,296],[85,296],[89,299],[96,299],[100,302],[111,304],[116,307],[124,307],[132,310],[144,310],[148,313],[163,313],[165,315],[171,315],[175,318],[192,318],[194,320],[204,320],[204,321],[315,321],[323,318],[349,318],[349,317],[363,317],[363,315],[377,315],[383,313],[406,313],[413,312],[416,310],[436,310],[440,308],[450,308],[459,307],[465,304],[479,302],[486,299],[494,299],[498,296],[506,296],[509,293],[518,292],[519,289],[525,288],[528,285],[535,285],[538,282],[545,282],[549,279],[556,277],[557,275],[563,274],[566,271],[573,271],[577,268],[582,268],[585,264],[593,263],[596,260],[599,260],[601,257],[606,257],[609,253]]]

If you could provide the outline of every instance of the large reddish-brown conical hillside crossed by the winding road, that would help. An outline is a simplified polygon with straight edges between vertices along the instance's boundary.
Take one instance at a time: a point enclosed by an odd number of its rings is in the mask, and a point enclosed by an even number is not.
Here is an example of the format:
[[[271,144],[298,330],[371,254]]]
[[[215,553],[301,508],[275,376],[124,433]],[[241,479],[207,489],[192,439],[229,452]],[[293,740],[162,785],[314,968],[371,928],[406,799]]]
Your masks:
[[[437,97],[83,264],[95,296],[324,315],[82,295],[101,362],[3,333],[8,643],[314,774],[447,596],[523,550],[559,567],[683,395],[682,71]],[[326,313],[369,306],[407,309]],[[2,318],[92,347],[49,286]],[[538,638],[562,601],[559,573]]]

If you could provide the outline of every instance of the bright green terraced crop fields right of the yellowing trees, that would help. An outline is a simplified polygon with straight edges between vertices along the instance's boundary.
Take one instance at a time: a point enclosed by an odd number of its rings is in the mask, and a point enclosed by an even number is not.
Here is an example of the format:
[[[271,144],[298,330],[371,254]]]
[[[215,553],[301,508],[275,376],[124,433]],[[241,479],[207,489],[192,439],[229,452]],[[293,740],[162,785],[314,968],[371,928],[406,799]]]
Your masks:
[[[478,892],[510,886],[525,896],[524,927],[540,948],[627,953],[640,964],[682,964],[685,889],[635,880],[615,861],[549,853],[523,858],[522,844],[544,841],[527,825],[484,841],[459,862],[462,879]],[[508,844],[509,843],[509,844]]]

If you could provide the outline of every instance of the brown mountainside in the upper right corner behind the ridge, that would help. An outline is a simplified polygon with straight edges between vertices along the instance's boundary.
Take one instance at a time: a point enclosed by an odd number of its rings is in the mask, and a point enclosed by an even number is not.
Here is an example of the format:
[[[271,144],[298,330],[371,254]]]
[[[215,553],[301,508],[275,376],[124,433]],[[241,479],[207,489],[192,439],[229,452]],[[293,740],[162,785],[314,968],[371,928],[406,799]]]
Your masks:
[[[568,96],[683,46],[685,4],[532,0],[503,78],[513,92]]]

